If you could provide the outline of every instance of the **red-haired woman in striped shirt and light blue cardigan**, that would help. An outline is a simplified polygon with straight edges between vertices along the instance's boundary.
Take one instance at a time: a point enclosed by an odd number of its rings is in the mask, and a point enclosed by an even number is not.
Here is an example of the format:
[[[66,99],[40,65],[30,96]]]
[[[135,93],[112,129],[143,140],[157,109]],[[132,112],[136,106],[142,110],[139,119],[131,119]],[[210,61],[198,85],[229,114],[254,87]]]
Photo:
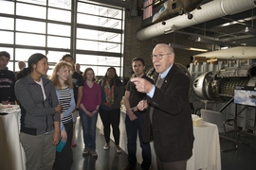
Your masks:
[[[66,61],[60,61],[55,65],[51,80],[56,89],[59,103],[63,106],[61,114],[61,140],[66,142],[63,149],[56,152],[55,170],[70,170],[72,165],[72,136],[73,136],[73,114],[75,110],[75,99],[72,86],[72,65]]]

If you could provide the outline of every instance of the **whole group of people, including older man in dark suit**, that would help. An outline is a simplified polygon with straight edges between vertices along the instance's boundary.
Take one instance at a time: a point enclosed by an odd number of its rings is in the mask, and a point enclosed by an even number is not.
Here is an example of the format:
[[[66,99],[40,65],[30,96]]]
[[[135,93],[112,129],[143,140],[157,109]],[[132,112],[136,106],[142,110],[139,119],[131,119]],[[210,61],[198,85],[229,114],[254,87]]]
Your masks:
[[[9,58],[3,58],[5,54],[0,52],[0,78],[8,70]],[[154,141],[159,170],[185,170],[187,160],[192,156],[190,83],[188,76],[174,64],[174,57],[174,49],[168,44],[155,45],[152,53],[156,72],[154,82],[144,75],[143,59],[132,61],[136,77],[129,80],[124,97],[128,164],[123,170],[136,168],[137,132],[142,148],[141,169],[150,169],[151,141]],[[33,54],[27,64],[27,68],[19,73],[21,78],[14,89],[21,108],[20,141],[27,157],[27,170],[52,169],[53,164],[56,170],[71,168],[73,121],[77,110],[82,120],[83,154],[97,156],[98,112],[104,127],[106,144],[103,148],[110,147],[112,126],[115,149],[121,153],[119,120],[123,84],[114,67],[109,67],[105,76],[96,83],[93,69],[87,68],[83,77],[74,72],[74,60],[70,55],[64,55],[56,64],[50,79],[46,77],[48,62],[45,55]],[[8,78],[3,77],[1,81],[13,86]],[[0,86],[0,90],[3,87]],[[3,103],[12,98],[0,99]],[[61,152],[56,152],[60,140],[66,144]]]

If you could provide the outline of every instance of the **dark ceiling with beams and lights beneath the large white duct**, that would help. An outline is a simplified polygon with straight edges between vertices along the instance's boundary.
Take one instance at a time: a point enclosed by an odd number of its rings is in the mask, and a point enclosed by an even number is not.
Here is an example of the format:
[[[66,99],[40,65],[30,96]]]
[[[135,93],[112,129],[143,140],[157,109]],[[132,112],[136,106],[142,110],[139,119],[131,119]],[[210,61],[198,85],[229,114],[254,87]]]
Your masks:
[[[256,2],[256,1],[255,1]],[[220,46],[256,46],[256,8],[175,31],[195,42]]]

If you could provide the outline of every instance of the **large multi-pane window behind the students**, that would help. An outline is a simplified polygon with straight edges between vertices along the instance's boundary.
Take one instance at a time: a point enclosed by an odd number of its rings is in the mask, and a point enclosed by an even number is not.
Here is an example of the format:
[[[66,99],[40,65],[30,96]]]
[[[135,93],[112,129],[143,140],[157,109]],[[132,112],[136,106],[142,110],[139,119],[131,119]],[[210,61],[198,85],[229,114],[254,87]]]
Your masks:
[[[104,76],[114,66],[123,76],[124,8],[88,0],[12,0],[0,1],[0,6],[8,8],[0,11],[0,22],[7,24],[0,26],[0,36],[6,37],[0,51],[11,56],[9,70],[19,71],[19,60],[27,62],[40,52],[48,58],[47,75],[64,54],[71,54],[82,71],[91,67]],[[95,21],[82,22],[82,17]]]

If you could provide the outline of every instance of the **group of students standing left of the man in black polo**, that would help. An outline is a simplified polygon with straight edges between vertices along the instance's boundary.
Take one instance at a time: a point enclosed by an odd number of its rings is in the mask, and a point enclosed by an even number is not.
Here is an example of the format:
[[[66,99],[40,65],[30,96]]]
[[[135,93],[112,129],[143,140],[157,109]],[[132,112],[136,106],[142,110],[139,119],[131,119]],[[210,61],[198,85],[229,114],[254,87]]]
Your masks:
[[[2,56],[5,59],[6,54],[1,52],[1,59]],[[75,72],[74,60],[69,54],[56,63],[49,78],[46,75],[48,68],[45,55],[33,54],[27,60],[27,68],[18,72],[19,78],[12,83],[21,108],[20,142],[25,150],[27,170],[71,169],[73,122],[77,111],[82,121],[83,154],[97,156],[98,112],[104,125],[104,149],[109,148],[112,125],[116,150],[120,153],[119,114],[123,85],[116,69],[108,68],[98,84],[92,68],[85,69],[82,75]],[[56,145],[60,142],[64,142],[64,147],[57,151]]]

